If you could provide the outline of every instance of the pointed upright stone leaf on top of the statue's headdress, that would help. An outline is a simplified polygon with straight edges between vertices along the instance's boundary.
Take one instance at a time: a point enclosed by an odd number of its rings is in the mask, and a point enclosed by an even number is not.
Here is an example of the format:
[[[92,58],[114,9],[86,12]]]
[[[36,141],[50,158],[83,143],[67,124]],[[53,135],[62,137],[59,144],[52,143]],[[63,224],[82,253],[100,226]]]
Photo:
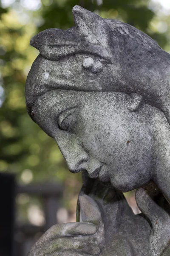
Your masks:
[[[73,16],[76,28],[85,36],[86,41],[110,47],[110,28],[102,17],[81,6],[73,7]]]

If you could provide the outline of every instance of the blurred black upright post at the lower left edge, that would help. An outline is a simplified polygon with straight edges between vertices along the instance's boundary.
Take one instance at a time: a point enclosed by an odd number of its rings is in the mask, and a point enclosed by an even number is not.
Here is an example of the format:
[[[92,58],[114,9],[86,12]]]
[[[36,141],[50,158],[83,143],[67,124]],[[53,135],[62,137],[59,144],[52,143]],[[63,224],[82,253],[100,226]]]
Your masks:
[[[0,173],[0,256],[14,255],[14,198],[14,175]]]

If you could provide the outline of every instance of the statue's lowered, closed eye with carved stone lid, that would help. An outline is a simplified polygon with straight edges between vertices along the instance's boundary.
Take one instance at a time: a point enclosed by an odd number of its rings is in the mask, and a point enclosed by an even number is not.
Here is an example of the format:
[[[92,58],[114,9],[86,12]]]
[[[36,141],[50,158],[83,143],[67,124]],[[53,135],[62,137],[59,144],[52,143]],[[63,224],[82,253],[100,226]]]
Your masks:
[[[77,122],[77,107],[67,109],[59,114],[58,126],[59,129],[65,131],[73,130]]]

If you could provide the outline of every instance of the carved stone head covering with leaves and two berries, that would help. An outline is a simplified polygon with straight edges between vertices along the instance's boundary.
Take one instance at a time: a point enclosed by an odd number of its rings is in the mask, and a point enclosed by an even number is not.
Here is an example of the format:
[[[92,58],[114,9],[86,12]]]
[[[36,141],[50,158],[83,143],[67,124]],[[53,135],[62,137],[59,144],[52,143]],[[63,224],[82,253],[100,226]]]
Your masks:
[[[75,26],[46,29],[30,44],[40,51],[26,81],[28,113],[49,90],[139,93],[170,123],[170,55],[149,36],[80,6]]]

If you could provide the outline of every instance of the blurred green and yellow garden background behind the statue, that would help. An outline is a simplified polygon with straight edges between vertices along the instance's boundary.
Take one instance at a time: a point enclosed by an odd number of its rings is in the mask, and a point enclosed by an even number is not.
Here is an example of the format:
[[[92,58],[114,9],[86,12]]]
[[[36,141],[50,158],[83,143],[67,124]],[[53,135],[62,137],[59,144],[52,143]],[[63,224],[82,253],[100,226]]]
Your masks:
[[[170,52],[170,0],[0,0],[0,255],[26,256],[51,225],[75,221],[81,176],[26,112],[24,87],[38,55],[32,36],[74,26],[72,7],[121,20]],[[134,192],[126,198],[138,213]]]

